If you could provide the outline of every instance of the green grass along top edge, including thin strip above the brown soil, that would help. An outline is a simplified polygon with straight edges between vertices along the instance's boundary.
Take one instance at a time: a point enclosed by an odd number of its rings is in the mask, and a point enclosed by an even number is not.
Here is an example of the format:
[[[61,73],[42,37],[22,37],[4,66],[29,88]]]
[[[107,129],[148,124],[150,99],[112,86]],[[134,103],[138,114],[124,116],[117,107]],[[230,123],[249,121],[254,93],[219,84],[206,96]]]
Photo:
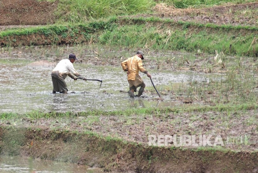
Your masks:
[[[47,0],[55,2],[56,0]],[[165,3],[176,8],[203,8],[226,3],[239,4],[256,2],[256,0],[60,0],[55,16],[58,22],[85,22],[91,19],[106,18],[107,16],[134,15],[153,13],[151,8],[158,3]],[[246,9],[248,11],[248,9]]]

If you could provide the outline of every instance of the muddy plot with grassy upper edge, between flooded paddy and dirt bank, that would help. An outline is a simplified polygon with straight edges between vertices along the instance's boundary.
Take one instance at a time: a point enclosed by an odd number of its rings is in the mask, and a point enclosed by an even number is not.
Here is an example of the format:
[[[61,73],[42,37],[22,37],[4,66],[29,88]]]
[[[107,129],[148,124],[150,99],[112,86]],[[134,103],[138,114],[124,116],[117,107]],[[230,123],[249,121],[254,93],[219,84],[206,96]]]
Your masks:
[[[110,112],[101,110],[77,113],[34,111],[25,114],[2,113],[0,116],[1,123],[15,124],[13,127],[16,128],[29,127],[38,130],[47,128],[48,130],[71,131],[112,140],[116,138],[128,140],[131,135],[136,135],[131,131],[131,128],[141,129],[141,133],[137,133],[138,142],[140,143],[142,141],[146,143],[148,135],[159,133],[173,133],[174,135],[220,134],[225,145],[228,137],[241,136],[241,143],[233,143],[233,149],[238,151],[241,149],[249,150],[250,146],[256,143],[256,133],[258,131],[256,115],[257,105],[221,104],[163,109],[141,108]],[[110,126],[110,124],[113,124],[114,127]],[[119,124],[120,128],[117,128],[117,124]],[[242,131],[239,128],[245,128],[246,130]],[[237,136],[232,133],[232,130],[237,133]],[[130,136],[125,134],[130,134]],[[211,150],[215,151],[223,148],[218,146]],[[207,148],[200,147],[198,149],[206,150]]]

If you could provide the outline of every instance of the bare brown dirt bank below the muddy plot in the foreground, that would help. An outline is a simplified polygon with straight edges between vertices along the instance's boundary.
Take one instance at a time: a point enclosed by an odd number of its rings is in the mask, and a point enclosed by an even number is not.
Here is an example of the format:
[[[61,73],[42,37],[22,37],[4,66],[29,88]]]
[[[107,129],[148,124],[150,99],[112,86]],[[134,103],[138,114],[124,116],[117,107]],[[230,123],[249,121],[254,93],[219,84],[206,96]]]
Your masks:
[[[1,154],[102,167],[112,172],[257,172],[257,153],[149,147],[69,130],[1,126]]]

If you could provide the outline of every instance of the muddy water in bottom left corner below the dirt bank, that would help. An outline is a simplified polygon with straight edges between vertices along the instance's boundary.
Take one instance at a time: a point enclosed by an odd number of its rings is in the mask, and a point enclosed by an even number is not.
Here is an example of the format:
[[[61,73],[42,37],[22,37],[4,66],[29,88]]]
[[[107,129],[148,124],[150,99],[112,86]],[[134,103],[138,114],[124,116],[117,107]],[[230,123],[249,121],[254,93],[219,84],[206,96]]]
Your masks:
[[[0,172],[14,173],[57,173],[57,172],[77,172],[77,173],[100,173],[103,172],[99,168],[89,168],[83,165],[72,163],[35,160],[31,158],[21,157],[0,157]]]

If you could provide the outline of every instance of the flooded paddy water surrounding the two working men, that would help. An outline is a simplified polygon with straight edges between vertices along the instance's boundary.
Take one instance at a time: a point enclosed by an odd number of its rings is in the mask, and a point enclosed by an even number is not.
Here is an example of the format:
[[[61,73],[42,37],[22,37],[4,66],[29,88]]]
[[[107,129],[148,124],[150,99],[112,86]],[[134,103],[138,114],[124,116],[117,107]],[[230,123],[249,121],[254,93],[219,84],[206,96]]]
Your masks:
[[[42,50],[37,48],[35,51]],[[59,60],[51,60],[50,56],[39,61],[23,50],[12,51],[7,56],[2,54],[0,59],[0,111],[2,113],[87,111],[93,109],[125,110],[130,107],[161,108],[183,104],[171,99],[171,94],[162,95],[164,101],[157,101],[158,94],[155,92],[150,79],[141,72],[140,76],[146,84],[146,91],[143,98],[132,99],[126,93],[129,90],[127,76],[120,65],[94,65],[83,62],[74,63],[75,69],[88,79],[103,80],[101,88],[99,88],[100,82],[74,81],[67,76],[65,81],[68,94],[52,94],[51,71]],[[149,68],[148,71],[151,73],[159,92],[166,88],[170,88],[170,90],[183,89],[190,80],[209,82],[211,77],[205,73],[158,71],[148,66],[145,68]]]

